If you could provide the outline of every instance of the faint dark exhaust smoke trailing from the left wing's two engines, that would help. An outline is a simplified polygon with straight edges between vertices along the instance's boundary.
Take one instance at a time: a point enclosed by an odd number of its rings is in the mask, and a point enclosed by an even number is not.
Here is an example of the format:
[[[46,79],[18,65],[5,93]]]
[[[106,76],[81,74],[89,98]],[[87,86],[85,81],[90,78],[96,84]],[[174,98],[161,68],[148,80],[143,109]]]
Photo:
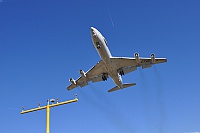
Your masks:
[[[99,92],[93,85],[89,84],[97,99],[90,97],[87,93],[80,90],[81,94],[93,107],[100,110],[104,117],[107,118],[112,125],[121,133],[134,133],[133,125],[118,111],[112,100],[105,94]]]

